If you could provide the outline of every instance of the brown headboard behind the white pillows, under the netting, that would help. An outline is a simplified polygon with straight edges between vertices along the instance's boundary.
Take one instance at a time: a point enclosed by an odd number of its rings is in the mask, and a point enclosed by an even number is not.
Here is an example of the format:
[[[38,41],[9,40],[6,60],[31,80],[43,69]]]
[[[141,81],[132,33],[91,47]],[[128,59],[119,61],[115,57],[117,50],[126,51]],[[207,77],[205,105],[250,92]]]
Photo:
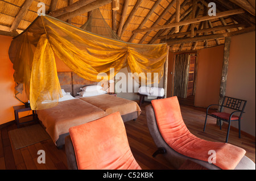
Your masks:
[[[97,85],[98,83],[83,79],[72,71],[63,71],[57,74],[61,89],[64,89],[65,92],[71,92],[72,96],[77,96],[77,92],[81,91],[80,88],[88,85]]]

